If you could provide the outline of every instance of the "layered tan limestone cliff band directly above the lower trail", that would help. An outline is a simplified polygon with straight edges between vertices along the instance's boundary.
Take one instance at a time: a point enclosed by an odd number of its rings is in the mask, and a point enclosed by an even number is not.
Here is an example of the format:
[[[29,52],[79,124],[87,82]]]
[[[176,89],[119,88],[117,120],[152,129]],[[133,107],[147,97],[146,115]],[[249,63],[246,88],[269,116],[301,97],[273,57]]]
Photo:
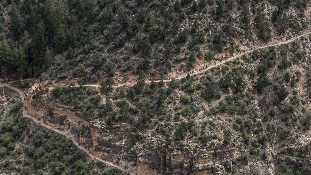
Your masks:
[[[128,135],[126,125],[107,126],[100,130],[83,114],[56,103],[40,106],[30,104],[29,114],[42,118],[47,124],[72,133],[81,145],[108,161],[128,166],[139,174],[230,174],[232,159],[236,157],[234,146],[213,146],[206,149],[169,147],[153,148],[152,152],[128,151],[127,144],[107,140],[109,134]],[[53,109],[52,116],[46,116]]]

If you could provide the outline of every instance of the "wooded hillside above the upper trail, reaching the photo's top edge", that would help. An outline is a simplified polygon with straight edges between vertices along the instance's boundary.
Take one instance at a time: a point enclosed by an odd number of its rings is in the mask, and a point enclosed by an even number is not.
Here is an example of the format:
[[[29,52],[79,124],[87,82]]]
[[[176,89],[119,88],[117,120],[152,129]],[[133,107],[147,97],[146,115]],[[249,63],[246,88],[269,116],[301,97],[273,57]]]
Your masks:
[[[248,50],[290,39],[310,21],[300,0],[25,0],[0,7],[3,75],[85,83],[129,81],[140,70],[180,73],[196,59],[234,54],[234,42]],[[244,32],[238,38],[228,26]]]

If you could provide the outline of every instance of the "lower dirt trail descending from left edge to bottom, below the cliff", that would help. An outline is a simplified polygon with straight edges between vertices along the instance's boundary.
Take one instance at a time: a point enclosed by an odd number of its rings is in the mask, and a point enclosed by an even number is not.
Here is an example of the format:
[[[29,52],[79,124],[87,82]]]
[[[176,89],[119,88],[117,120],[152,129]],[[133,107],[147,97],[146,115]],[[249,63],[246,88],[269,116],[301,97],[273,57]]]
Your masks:
[[[9,86],[9,85],[6,84],[6,83],[2,83],[2,86],[8,87],[8,88],[10,88],[10,89],[12,89],[12,90],[18,92],[19,95],[21,96],[22,101],[24,102],[23,105],[24,105],[24,106],[28,106],[28,100],[27,100],[27,98],[26,98],[25,93],[24,93],[22,90],[17,89],[17,88],[15,88],[15,87],[11,87],[11,86]],[[26,100],[24,100],[24,99],[26,99]],[[57,133],[59,133],[59,134],[65,135],[68,139],[72,140],[72,143],[73,143],[73,144],[75,144],[78,148],[80,148],[80,149],[82,149],[84,152],[86,152],[91,158],[104,162],[100,157],[98,157],[98,156],[96,156],[96,155],[94,155],[94,154],[91,154],[91,153],[90,153],[86,148],[84,148],[83,146],[79,146],[79,143],[78,143],[76,140],[72,139],[72,136],[71,136],[71,135],[68,135],[67,133],[65,133],[65,132],[63,132],[63,131],[57,130],[57,129],[55,129],[55,128],[53,128],[53,127],[51,127],[51,126],[45,124],[44,121],[38,121],[38,120],[36,120],[36,118],[30,116],[30,115],[27,113],[27,111],[25,111],[25,109],[23,109],[23,116],[24,116],[24,117],[27,117],[27,118],[30,118],[30,119],[32,119],[33,121],[35,121],[35,122],[37,122],[37,123],[43,125],[43,126],[46,127],[46,128],[49,128],[49,129],[51,129],[51,130],[53,130],[53,131],[55,131],[55,132],[57,132]],[[115,164],[113,164],[113,163],[111,163],[111,162],[106,161],[105,163],[107,163],[107,164],[109,164],[109,165],[111,165],[111,166],[113,166],[113,167],[116,167],[116,168],[120,169],[121,171],[123,171],[123,172],[125,172],[125,173],[129,173],[129,174],[133,174],[133,175],[136,175],[136,174],[137,174],[137,173],[132,172],[132,171],[130,171],[130,170],[126,170],[126,171],[125,171],[124,168],[122,168],[122,167],[120,167],[120,166],[118,166],[118,165],[115,165]]]

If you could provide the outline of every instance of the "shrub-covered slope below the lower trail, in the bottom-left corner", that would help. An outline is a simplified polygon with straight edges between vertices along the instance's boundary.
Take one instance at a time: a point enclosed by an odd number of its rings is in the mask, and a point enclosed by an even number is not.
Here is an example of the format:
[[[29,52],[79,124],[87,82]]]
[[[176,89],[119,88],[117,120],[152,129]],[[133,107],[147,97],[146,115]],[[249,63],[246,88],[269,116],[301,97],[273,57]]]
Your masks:
[[[0,101],[1,174],[117,174],[91,160],[72,140],[21,116],[22,100],[6,87]],[[125,173],[123,173],[125,174]]]

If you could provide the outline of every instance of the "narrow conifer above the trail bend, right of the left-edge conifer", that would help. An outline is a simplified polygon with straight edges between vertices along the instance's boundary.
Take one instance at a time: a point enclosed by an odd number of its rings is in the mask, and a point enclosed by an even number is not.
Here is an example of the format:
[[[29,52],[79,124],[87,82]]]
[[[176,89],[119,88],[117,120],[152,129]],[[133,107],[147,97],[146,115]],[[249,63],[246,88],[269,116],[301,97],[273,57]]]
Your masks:
[[[16,55],[17,76],[19,78],[26,75],[28,68],[28,59],[25,54],[24,48],[19,45]]]

